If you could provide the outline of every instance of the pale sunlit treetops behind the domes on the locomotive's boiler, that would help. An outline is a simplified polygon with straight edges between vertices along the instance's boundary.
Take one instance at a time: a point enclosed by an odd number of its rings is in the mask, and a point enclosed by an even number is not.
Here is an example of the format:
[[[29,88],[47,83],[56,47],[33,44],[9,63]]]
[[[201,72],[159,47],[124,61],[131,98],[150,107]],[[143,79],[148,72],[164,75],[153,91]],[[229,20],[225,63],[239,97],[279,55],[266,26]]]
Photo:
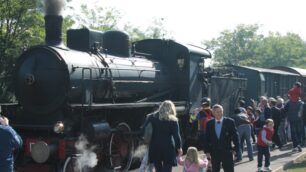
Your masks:
[[[69,6],[69,4],[68,4]],[[73,6],[69,6],[73,11],[73,15],[69,17],[78,23],[81,27],[95,29],[99,31],[120,30],[118,23],[121,20],[121,13],[112,7],[91,6],[87,4],[81,5],[80,12]],[[127,32],[132,42],[147,38],[165,38],[170,37],[169,32],[164,26],[163,18],[155,18],[152,24],[144,30],[126,23],[123,31]]]

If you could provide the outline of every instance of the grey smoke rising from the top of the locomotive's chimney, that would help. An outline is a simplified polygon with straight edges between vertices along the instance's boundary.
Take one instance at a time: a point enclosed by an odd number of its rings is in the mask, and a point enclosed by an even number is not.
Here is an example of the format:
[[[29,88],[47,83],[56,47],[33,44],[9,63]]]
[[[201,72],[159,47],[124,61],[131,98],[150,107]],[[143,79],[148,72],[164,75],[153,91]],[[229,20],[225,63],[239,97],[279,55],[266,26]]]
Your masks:
[[[65,0],[45,0],[46,15],[61,15]]]

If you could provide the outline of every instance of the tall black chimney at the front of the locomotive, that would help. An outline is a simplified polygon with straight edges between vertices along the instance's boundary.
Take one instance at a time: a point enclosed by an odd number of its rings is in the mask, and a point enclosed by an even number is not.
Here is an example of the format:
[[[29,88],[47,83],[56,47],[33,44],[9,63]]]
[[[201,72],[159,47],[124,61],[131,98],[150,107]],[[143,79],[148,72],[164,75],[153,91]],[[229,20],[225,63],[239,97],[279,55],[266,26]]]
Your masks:
[[[45,16],[45,41],[47,45],[60,45],[62,43],[63,17],[60,15]]]

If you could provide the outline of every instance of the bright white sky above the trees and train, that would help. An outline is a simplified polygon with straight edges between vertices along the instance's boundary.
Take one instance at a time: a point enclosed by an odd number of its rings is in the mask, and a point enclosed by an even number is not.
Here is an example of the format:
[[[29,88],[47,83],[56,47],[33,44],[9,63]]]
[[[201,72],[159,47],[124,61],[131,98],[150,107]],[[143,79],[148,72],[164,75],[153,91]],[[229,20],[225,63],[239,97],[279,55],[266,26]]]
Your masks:
[[[259,33],[293,32],[306,40],[305,0],[73,0],[114,7],[121,23],[145,29],[154,18],[180,42],[200,45],[238,24],[259,24]]]

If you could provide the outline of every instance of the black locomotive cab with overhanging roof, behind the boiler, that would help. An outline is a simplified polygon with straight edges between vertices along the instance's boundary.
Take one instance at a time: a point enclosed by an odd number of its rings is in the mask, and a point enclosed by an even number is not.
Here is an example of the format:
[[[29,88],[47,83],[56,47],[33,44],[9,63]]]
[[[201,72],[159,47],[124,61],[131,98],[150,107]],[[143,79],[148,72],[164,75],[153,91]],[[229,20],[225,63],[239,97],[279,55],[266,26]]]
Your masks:
[[[136,53],[148,54],[147,58],[167,65],[172,76],[169,82],[176,89],[174,100],[187,101],[188,105],[197,107],[201,98],[206,96],[203,79],[199,74],[204,69],[204,60],[211,58],[209,51],[194,45],[161,39],[138,41],[133,47]]]

